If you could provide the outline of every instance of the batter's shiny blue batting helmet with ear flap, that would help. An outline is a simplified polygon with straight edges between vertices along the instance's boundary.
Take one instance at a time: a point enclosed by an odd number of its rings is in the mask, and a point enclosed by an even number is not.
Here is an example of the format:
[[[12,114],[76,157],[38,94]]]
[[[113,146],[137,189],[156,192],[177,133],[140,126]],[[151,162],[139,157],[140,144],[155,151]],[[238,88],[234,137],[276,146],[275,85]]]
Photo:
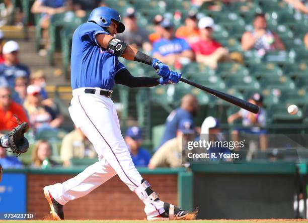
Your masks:
[[[99,7],[94,9],[89,16],[88,22],[93,21],[101,27],[108,27],[111,25],[112,20],[118,24],[117,33],[123,33],[125,26],[120,22],[120,14],[111,8]]]

